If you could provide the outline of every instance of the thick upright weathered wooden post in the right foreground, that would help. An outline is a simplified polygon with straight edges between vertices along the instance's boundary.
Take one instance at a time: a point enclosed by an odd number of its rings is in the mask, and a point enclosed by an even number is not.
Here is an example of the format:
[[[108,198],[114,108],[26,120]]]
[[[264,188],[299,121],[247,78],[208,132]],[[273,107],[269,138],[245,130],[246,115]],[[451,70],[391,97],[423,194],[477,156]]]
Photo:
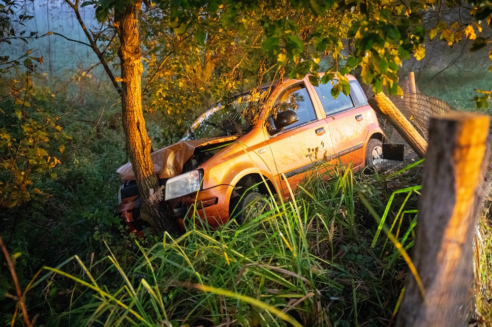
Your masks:
[[[396,326],[466,326],[473,294],[473,239],[490,152],[489,116],[452,112],[431,118],[422,176],[413,275]]]

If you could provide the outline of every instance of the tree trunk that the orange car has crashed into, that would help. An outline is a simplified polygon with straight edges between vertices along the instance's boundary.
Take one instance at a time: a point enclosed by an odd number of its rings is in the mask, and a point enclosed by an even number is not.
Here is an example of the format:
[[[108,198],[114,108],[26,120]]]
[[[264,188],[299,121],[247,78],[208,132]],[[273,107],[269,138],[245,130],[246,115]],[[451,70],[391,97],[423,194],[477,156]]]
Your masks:
[[[143,66],[140,59],[138,13],[141,0],[126,5],[124,12],[115,12],[115,26],[120,37],[118,55],[122,70],[122,119],[128,156],[142,199],[142,218],[154,228],[179,233],[177,220],[166,214],[162,187],[159,186],[151,159],[151,139],[145,129],[142,113],[141,79]]]

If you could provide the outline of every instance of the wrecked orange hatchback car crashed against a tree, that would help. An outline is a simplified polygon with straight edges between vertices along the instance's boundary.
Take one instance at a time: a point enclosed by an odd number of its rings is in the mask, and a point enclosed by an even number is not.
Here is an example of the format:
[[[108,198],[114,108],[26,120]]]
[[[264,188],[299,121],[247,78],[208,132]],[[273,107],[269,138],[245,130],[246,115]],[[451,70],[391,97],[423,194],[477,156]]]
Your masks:
[[[330,82],[313,86],[306,77],[209,108],[181,141],[151,154],[169,214],[182,225],[193,212],[212,227],[229,218],[241,223],[244,207],[268,194],[267,185],[288,198],[287,183],[296,191],[319,164],[341,161],[354,170],[377,165],[383,131],[357,80],[347,78],[350,95],[336,99]],[[117,214],[136,232],[144,221],[131,164],[118,172]]]

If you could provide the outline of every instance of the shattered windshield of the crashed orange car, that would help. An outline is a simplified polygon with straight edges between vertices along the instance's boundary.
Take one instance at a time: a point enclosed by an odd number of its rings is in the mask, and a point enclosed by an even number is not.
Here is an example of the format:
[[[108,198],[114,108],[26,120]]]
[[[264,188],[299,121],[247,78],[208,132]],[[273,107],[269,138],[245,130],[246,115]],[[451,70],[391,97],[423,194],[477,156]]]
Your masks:
[[[215,104],[191,124],[182,139],[245,135],[258,119],[260,99],[267,93],[264,91],[253,90]]]

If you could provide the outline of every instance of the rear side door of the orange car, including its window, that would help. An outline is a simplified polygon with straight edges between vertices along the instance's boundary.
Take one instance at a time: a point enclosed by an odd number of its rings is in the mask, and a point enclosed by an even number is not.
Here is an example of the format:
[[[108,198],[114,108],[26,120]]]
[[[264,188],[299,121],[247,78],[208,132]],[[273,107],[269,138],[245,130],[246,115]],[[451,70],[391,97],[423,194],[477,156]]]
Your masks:
[[[344,166],[352,162],[354,169],[357,169],[364,163],[364,142],[369,133],[369,125],[365,109],[360,107],[359,96],[356,94],[362,92],[362,89],[357,81],[351,81],[350,86],[350,95],[340,93],[336,99],[331,94],[331,82],[313,86],[313,89],[326,114],[325,121],[336,158]]]

